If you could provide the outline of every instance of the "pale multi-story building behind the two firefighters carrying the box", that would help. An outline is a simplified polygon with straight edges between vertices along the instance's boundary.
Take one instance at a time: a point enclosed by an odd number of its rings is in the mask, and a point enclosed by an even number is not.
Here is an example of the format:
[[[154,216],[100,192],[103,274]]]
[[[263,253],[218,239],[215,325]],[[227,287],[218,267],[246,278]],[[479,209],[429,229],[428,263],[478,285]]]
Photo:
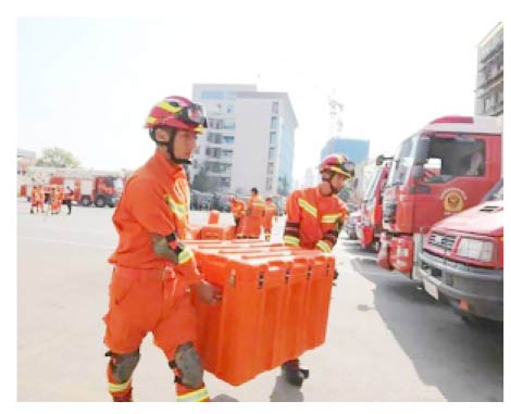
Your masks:
[[[249,195],[287,193],[292,184],[295,129],[285,92],[260,92],[256,85],[194,85],[194,100],[208,113],[208,129],[198,137],[190,179],[201,168],[211,190]]]

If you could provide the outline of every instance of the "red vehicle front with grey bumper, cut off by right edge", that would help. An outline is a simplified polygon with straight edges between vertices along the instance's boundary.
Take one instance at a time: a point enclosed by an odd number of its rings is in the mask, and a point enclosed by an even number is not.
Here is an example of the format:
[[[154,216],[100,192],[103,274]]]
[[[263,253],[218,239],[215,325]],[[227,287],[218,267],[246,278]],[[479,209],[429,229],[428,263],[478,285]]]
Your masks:
[[[462,315],[503,321],[503,179],[484,201],[437,223],[419,253],[424,289]]]

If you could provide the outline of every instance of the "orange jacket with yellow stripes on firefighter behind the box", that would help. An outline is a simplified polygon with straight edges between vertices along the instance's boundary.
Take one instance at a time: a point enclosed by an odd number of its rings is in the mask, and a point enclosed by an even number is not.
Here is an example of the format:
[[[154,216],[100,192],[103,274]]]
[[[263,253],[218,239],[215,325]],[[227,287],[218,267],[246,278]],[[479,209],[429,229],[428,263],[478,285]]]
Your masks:
[[[348,208],[337,196],[322,196],[317,187],[294,191],[286,203],[284,242],[329,253],[337,242]]]

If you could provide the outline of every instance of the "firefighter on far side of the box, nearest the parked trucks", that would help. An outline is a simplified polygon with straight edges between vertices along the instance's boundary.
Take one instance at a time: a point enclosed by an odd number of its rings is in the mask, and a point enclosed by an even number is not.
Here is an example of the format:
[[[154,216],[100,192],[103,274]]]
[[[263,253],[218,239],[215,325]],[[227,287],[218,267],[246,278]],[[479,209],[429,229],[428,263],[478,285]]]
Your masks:
[[[348,208],[337,197],[344,181],[354,175],[354,164],[344,154],[331,154],[320,164],[322,181],[316,187],[294,191],[287,199],[284,242],[329,253],[337,242]],[[300,387],[309,371],[297,355],[282,369],[288,382]]]

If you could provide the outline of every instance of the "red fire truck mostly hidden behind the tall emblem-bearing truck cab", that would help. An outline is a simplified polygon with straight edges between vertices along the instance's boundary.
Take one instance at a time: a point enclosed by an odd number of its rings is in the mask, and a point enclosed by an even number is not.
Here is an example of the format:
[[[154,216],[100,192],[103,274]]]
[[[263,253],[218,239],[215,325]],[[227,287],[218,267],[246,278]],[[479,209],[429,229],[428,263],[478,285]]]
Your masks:
[[[383,189],[390,171],[390,158],[379,155],[377,170],[371,177],[360,206],[361,219],[357,224],[357,238],[364,249],[379,250],[379,235],[383,222]]]

